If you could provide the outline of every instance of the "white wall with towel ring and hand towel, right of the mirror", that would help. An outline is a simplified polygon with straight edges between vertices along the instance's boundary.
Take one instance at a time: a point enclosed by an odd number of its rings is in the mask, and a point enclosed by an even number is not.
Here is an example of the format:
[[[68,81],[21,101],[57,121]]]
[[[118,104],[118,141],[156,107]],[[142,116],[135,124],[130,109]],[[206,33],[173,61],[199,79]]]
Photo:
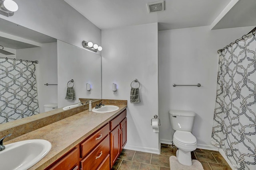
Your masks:
[[[150,125],[158,115],[157,41],[157,23],[102,30],[102,98],[128,100],[126,149],[159,152],[158,133]],[[141,102],[131,104],[130,84],[135,78]],[[112,83],[117,84],[117,94]]]

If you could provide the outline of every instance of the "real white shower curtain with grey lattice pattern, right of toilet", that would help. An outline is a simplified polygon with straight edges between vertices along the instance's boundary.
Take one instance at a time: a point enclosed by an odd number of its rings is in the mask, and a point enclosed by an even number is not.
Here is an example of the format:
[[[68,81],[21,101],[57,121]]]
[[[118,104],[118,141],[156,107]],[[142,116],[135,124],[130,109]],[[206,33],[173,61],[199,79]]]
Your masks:
[[[211,143],[238,170],[256,170],[255,32],[219,53]]]

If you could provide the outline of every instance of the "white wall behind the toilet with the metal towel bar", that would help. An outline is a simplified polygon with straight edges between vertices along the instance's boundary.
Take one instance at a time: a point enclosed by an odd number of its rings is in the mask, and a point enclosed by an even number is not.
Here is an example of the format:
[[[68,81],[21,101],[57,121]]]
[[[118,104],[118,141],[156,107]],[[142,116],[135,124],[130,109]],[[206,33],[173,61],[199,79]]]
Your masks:
[[[247,34],[253,27],[210,30],[209,26],[158,32],[160,141],[170,143],[170,109],[196,112],[198,148],[210,145],[218,72],[217,50]],[[173,87],[172,84],[198,84]]]

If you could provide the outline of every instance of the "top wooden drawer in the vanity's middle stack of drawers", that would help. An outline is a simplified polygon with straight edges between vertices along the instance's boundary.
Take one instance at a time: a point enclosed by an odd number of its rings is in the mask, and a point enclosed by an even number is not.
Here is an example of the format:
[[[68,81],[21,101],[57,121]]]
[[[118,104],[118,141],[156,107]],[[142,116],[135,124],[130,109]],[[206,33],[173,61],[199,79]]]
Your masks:
[[[86,156],[98,143],[102,141],[109,133],[109,123],[98,130],[94,135],[92,135],[89,139],[86,139],[83,143],[80,144],[81,148],[81,158]]]

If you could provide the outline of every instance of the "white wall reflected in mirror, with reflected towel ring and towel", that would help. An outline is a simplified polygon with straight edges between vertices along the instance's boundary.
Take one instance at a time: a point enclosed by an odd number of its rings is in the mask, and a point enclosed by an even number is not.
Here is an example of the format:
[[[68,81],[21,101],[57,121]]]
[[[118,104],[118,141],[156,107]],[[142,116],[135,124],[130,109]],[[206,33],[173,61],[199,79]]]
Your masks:
[[[78,103],[78,98],[101,98],[101,56],[84,48],[57,41],[58,46],[58,107]],[[66,100],[67,83],[74,80],[75,100]],[[86,91],[91,84],[91,93]],[[69,84],[72,86],[72,83]]]

